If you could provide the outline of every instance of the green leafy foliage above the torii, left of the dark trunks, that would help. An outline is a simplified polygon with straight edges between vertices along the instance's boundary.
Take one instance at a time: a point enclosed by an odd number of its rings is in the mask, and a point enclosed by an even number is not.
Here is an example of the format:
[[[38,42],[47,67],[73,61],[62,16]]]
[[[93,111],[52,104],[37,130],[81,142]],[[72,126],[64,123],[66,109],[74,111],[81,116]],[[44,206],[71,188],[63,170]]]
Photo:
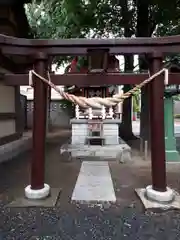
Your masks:
[[[27,5],[27,16],[36,37],[45,38],[122,36],[121,11],[120,5],[99,0],[44,0]],[[129,19],[133,19],[133,13],[129,11]]]

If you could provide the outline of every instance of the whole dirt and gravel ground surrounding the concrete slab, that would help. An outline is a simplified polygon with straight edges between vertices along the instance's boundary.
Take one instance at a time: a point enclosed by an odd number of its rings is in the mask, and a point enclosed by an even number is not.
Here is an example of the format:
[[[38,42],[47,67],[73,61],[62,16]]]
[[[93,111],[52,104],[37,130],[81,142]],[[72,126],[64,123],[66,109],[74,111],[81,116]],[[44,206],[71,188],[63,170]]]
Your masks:
[[[31,153],[0,165],[0,240],[180,240],[180,212],[145,212],[134,188],[151,182],[149,166],[110,164],[115,205],[75,205],[69,202],[80,163],[59,157],[59,139],[46,148],[46,179],[63,191],[54,208],[8,208],[9,192],[28,184]],[[50,159],[50,161],[48,161]],[[169,184],[180,192],[180,167],[171,167]],[[67,174],[68,171],[68,174]]]

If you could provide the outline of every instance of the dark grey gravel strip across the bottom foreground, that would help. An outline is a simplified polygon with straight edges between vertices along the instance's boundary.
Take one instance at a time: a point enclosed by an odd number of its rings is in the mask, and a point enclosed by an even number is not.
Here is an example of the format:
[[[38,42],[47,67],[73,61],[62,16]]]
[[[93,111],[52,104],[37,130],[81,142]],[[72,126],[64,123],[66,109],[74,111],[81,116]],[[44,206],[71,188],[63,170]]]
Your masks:
[[[136,208],[88,208],[73,212],[54,209],[4,209],[1,207],[1,239],[61,240],[179,240],[178,212],[152,214]],[[41,236],[41,237],[40,237]]]

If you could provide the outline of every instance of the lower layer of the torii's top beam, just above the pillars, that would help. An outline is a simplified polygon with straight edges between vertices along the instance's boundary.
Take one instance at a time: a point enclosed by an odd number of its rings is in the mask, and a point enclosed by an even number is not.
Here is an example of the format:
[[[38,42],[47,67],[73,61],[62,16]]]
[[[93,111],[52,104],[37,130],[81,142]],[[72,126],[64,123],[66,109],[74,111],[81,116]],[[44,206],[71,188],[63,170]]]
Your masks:
[[[1,43],[0,43],[1,45]],[[20,55],[20,56],[33,56],[37,52],[41,51],[49,56],[78,56],[78,55],[87,55],[87,51],[90,47],[51,47],[51,45],[42,47],[33,47],[27,46],[12,46],[4,45],[0,46],[0,49],[3,54],[7,55]],[[104,49],[103,47],[96,46],[95,49],[98,51]],[[109,54],[111,55],[124,55],[124,54],[145,54],[160,51],[164,54],[166,53],[177,53],[180,52],[180,46],[123,46],[123,47],[110,47]]]

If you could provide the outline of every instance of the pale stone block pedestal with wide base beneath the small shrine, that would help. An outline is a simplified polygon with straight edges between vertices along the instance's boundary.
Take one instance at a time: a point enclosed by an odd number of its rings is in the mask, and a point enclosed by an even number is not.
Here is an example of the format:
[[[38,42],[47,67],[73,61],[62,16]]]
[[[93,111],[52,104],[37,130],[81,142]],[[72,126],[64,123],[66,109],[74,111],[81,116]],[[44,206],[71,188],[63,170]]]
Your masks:
[[[60,149],[60,154],[66,154],[68,159],[102,159],[117,160],[119,162],[127,162],[131,160],[131,148],[119,137],[120,119],[101,119],[99,123],[102,125],[100,135],[90,136],[89,122],[90,119],[72,119],[72,137],[71,143],[64,144]],[[95,120],[93,124],[96,124]],[[103,144],[96,142],[90,144],[88,139],[103,139]],[[100,141],[99,141],[100,142]],[[67,154],[68,153],[68,154]],[[93,158],[92,158],[93,157]],[[94,158],[95,157],[95,158]]]

